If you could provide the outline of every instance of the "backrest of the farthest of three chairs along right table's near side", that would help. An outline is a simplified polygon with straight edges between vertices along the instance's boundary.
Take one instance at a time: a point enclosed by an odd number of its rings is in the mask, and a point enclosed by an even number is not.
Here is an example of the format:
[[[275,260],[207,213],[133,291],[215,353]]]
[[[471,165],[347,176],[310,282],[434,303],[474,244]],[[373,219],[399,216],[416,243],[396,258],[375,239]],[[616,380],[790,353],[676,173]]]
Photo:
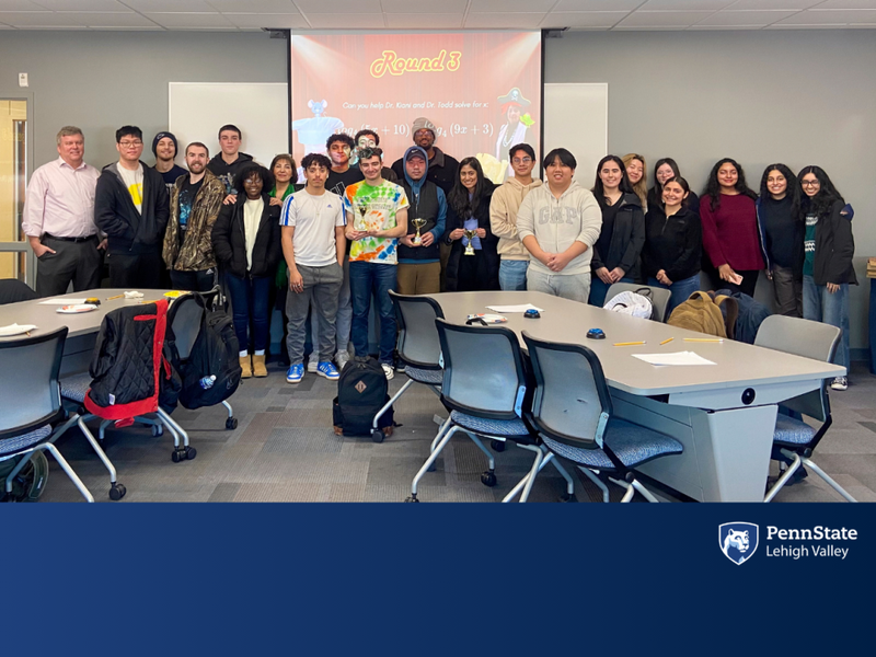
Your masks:
[[[396,295],[390,290],[399,322],[399,356],[423,369],[441,369],[441,344],[436,318],[443,319],[441,306],[430,297]]]

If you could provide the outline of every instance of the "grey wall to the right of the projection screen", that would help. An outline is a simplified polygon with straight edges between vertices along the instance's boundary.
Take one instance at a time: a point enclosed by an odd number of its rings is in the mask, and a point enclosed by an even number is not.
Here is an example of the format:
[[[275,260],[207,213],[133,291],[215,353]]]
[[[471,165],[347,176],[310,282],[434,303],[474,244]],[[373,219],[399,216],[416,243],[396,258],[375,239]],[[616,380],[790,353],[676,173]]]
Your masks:
[[[855,208],[862,285],[852,286],[851,344],[860,349],[866,256],[876,255],[875,37],[873,30],[572,32],[546,39],[544,81],[607,82],[609,150],[645,155],[649,178],[657,159],[672,157],[698,194],[723,157],[740,162],[752,188],[774,162],[795,172],[822,166]]]

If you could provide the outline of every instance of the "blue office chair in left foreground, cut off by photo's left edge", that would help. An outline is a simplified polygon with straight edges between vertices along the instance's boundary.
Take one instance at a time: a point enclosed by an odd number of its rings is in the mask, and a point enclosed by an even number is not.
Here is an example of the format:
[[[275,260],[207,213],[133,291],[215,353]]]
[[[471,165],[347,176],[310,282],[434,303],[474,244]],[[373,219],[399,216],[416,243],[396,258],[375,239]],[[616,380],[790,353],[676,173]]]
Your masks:
[[[67,326],[45,335],[0,341],[0,461],[19,459],[5,479],[7,494],[31,454],[45,450],[55,457],[82,497],[94,502],[85,484],[53,445],[60,435],[53,431],[53,426],[66,419],[58,383],[66,339]],[[22,372],[27,376],[22,377]]]

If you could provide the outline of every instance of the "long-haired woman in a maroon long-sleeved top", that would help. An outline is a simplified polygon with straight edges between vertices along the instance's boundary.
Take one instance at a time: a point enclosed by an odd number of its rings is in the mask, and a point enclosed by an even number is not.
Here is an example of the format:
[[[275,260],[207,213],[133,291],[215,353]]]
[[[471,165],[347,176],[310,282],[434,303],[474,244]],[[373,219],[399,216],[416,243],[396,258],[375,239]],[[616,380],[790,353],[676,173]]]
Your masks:
[[[748,188],[746,174],[736,160],[724,158],[712,168],[700,204],[700,218],[713,289],[728,288],[754,296],[758,274],[763,269],[757,197]]]

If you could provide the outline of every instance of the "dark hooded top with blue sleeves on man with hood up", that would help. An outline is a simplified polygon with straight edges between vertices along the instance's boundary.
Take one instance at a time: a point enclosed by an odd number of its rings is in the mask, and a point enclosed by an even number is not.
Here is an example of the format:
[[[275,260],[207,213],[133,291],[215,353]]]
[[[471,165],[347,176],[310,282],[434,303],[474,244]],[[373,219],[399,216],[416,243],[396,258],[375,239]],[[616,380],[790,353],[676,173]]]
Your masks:
[[[440,258],[438,251],[438,242],[445,233],[445,221],[447,219],[447,198],[443,191],[435,183],[427,180],[429,172],[429,159],[426,157],[426,151],[418,146],[408,148],[404,158],[404,164],[411,153],[418,152],[425,162],[425,170],[423,177],[418,181],[413,180],[407,174],[407,166],[404,168],[404,181],[402,187],[407,195],[407,201],[411,204],[407,208],[407,234],[416,234],[417,229],[414,226],[413,219],[425,219],[426,224],[419,229],[419,234],[423,237],[425,233],[430,232],[434,240],[428,246],[405,246],[399,242],[399,263],[400,264],[426,264],[437,263]]]

